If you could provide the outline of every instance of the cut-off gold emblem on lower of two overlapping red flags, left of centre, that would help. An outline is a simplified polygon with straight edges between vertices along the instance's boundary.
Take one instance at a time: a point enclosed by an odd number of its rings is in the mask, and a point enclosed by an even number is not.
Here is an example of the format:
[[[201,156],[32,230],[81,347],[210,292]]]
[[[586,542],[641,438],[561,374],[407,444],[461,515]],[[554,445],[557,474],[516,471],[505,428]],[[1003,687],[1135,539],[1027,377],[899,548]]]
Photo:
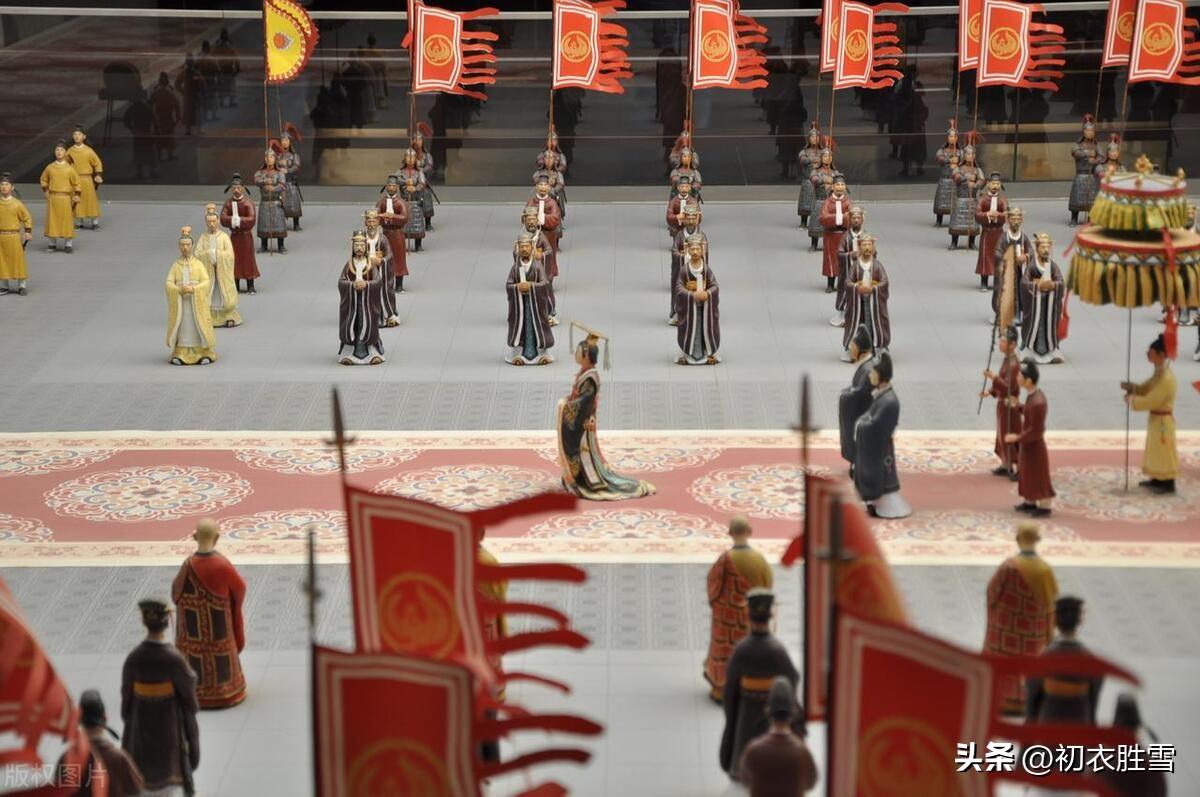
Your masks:
[[[433,750],[406,738],[383,739],[359,753],[350,765],[347,793],[352,797],[455,797],[445,766]]]

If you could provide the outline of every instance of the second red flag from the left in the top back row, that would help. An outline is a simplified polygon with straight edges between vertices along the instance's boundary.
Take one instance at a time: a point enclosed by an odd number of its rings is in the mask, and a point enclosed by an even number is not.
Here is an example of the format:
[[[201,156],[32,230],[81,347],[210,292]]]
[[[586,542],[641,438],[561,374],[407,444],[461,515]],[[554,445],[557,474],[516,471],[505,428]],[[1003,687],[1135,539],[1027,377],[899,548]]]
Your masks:
[[[629,32],[614,23],[604,22],[625,0],[554,0],[554,76],[553,88],[592,89],[608,94],[625,91],[620,78],[631,78]]]

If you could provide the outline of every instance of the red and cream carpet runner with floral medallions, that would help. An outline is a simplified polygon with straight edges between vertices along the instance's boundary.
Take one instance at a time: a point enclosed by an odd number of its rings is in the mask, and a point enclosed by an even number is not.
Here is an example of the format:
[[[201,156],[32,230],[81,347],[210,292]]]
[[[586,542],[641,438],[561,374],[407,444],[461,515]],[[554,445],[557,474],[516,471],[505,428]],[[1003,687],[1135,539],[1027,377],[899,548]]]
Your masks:
[[[1184,473],[1171,497],[1123,492],[1122,442],[1051,438],[1060,498],[1043,552],[1076,564],[1200,567],[1200,435],[1180,437]],[[601,444],[658,495],[499,526],[490,546],[509,558],[707,561],[726,545],[731,515],[748,515],[772,552],[798,528],[794,436],[601,430]],[[348,463],[358,485],[475,509],[553,487],[553,445],[550,433],[370,433]],[[990,475],[989,436],[914,432],[896,448],[916,513],[875,525],[894,562],[995,562],[1013,550],[1015,485]],[[8,564],[174,561],[203,516],[221,521],[224,550],[242,562],[298,561],[308,523],[324,561],[344,557],[335,457],[316,435],[10,435],[0,450]],[[811,459],[821,473],[845,473],[832,436],[815,439]]]

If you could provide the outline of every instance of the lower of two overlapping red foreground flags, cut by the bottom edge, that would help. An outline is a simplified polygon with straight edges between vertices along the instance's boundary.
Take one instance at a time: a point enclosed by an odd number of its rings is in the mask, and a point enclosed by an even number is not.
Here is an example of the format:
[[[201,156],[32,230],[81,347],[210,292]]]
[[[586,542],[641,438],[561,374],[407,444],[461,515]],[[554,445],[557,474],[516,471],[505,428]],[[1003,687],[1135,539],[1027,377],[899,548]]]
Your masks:
[[[313,681],[318,797],[478,796],[484,778],[590,757],[550,749],[485,765],[475,756],[481,741],[526,729],[589,736],[602,730],[571,715],[521,712],[518,719],[485,720],[470,671],[444,661],[314,646]]]

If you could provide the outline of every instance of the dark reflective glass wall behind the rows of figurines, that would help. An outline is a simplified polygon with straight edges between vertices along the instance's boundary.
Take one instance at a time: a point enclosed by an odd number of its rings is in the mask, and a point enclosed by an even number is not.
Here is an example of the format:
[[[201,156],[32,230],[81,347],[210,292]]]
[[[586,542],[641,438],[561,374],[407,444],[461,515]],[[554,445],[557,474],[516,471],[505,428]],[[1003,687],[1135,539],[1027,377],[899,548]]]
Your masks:
[[[1007,179],[1061,180],[1073,172],[1069,149],[1080,116],[1098,112],[1106,137],[1121,126],[1122,107],[1128,162],[1145,151],[1165,169],[1200,170],[1200,91],[1156,83],[1126,91],[1124,70],[1097,68],[1104,12],[1046,7],[1069,41],[1056,94],[977,92],[970,72],[960,84],[956,17],[947,13],[899,18],[905,80],[889,90],[841,91],[833,101],[830,76],[816,71],[814,19],[761,18],[770,37],[769,86],[695,94],[704,181],[794,182],[796,152],[809,122],[818,120],[833,130],[838,166],[851,182],[924,184],[955,116],[961,130],[977,125],[983,132],[988,168]],[[620,22],[635,72],[625,94],[570,90],[554,97],[575,186],[661,184],[665,151],[683,124],[686,19]],[[547,127],[550,20],[475,24],[500,36],[488,101],[421,95],[416,120],[433,130],[439,181],[526,185]],[[379,185],[407,146],[409,71],[400,49],[406,24],[319,19],[319,26],[308,68],[264,96],[257,18],[0,13],[0,168],[35,180],[54,139],[82,124],[110,182],[223,184],[233,172],[258,168],[265,102],[266,134],[277,136],[281,122],[300,130],[304,184]]]

